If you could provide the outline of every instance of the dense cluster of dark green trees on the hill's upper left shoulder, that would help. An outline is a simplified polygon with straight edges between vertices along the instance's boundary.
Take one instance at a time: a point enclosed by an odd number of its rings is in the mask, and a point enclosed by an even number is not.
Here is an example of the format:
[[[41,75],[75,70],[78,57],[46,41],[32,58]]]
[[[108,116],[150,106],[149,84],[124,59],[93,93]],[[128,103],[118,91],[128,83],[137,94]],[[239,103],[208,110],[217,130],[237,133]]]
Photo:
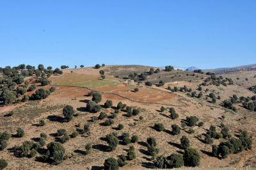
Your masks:
[[[26,70],[25,70],[26,68]],[[28,85],[33,80],[32,78],[29,81],[24,82],[24,78],[36,75],[35,82],[40,82],[42,86],[46,86],[49,84],[49,78],[52,73],[60,73],[60,70],[56,68],[56,70],[51,70],[51,66],[44,68],[44,65],[38,65],[38,69],[35,70],[35,66],[24,66],[20,65],[17,68],[10,68],[10,66],[6,66],[3,68],[3,77],[0,77],[0,101],[2,101],[5,105],[11,104],[12,102],[26,102],[27,100],[40,100],[42,98],[46,98],[49,96],[50,92],[54,91],[55,88],[52,87],[50,91],[45,89],[38,89],[35,94],[31,97],[25,95],[27,91],[34,91],[36,89],[36,85],[32,84]],[[20,71],[21,70],[21,71]],[[39,78],[40,77],[40,78]],[[22,86],[17,86],[17,84],[24,84]],[[17,88],[15,89],[15,86]],[[21,95],[24,95],[20,98]]]

